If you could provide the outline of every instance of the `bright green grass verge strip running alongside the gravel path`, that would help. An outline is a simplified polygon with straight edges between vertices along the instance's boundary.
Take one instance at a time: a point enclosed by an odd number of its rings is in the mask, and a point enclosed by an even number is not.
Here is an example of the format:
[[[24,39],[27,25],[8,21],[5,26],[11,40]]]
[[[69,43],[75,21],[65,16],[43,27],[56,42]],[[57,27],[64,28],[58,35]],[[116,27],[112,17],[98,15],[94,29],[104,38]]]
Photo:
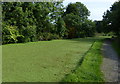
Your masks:
[[[63,82],[104,82],[103,74],[100,70],[102,55],[102,40],[97,40],[86,53],[84,60],[75,71],[67,75]]]

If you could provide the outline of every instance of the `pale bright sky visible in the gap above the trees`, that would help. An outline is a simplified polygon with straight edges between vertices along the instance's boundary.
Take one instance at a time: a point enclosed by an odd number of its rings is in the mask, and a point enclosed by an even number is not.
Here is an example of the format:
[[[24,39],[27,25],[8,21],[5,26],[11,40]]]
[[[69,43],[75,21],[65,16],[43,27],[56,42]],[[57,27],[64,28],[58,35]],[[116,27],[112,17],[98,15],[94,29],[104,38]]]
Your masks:
[[[63,5],[67,6],[69,3],[81,2],[90,11],[91,20],[102,20],[103,13],[111,7],[117,0],[64,0]]]

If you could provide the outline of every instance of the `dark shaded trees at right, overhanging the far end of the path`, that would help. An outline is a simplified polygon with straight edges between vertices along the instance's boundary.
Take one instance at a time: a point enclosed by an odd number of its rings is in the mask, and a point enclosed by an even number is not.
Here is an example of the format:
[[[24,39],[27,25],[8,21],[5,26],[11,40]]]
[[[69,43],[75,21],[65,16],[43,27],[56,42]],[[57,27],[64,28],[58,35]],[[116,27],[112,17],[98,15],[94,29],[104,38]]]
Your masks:
[[[97,21],[97,30],[104,33],[113,32],[120,37],[120,1],[115,2],[103,15],[102,21]],[[100,29],[101,27],[101,29]]]

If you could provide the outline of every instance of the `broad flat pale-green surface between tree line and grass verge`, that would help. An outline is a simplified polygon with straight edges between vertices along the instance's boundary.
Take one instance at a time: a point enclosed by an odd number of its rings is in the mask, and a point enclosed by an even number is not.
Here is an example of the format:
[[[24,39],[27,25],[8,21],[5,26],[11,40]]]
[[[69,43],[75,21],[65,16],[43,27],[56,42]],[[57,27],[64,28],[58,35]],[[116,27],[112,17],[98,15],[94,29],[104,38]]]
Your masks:
[[[2,46],[3,82],[59,82],[71,73],[95,38]]]

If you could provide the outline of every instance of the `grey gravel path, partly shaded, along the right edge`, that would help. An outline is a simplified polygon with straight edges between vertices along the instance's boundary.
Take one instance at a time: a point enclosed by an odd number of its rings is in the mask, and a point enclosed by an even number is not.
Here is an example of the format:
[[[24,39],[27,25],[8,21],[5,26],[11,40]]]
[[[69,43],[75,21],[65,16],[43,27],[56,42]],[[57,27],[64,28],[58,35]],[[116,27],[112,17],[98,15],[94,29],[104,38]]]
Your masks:
[[[106,82],[120,82],[119,58],[115,50],[112,48],[109,40],[106,40],[103,43],[102,53],[104,58],[101,69],[105,76]]]

